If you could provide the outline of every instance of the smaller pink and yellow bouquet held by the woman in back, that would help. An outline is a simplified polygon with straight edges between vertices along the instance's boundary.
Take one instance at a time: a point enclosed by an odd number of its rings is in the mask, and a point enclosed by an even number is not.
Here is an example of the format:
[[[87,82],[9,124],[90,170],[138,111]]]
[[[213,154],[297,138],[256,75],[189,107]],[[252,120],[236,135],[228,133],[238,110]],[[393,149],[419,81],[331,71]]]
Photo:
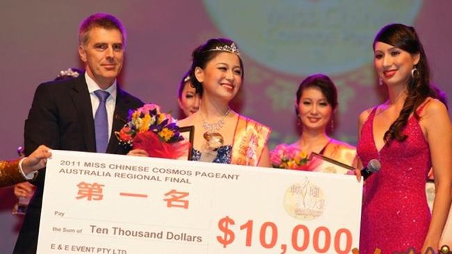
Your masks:
[[[293,169],[312,171],[316,167],[310,162],[305,151],[301,151],[296,146],[280,144],[270,152],[271,164],[277,169]]]

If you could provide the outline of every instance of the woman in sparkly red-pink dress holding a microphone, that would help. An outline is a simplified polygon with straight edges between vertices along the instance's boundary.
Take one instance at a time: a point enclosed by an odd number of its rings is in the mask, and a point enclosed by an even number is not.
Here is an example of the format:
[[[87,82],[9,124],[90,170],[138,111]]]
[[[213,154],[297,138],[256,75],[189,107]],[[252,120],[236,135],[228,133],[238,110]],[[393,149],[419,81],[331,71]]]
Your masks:
[[[389,99],[362,112],[359,120],[361,166],[371,159],[381,163],[364,185],[360,252],[437,250],[451,207],[451,121],[430,86],[426,54],[414,28],[383,27],[373,51]],[[436,197],[430,214],[425,187],[432,166]]]

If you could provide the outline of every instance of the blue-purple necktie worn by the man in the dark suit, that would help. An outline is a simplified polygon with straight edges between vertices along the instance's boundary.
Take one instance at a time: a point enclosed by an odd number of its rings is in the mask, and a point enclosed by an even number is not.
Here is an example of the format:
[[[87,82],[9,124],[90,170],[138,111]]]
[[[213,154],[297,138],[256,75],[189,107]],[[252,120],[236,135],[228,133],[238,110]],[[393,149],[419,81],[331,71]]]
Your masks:
[[[97,108],[96,115],[94,116],[96,151],[97,153],[105,153],[108,145],[108,118],[106,115],[105,101],[110,94],[102,90],[96,90],[94,94],[99,98],[99,108]]]

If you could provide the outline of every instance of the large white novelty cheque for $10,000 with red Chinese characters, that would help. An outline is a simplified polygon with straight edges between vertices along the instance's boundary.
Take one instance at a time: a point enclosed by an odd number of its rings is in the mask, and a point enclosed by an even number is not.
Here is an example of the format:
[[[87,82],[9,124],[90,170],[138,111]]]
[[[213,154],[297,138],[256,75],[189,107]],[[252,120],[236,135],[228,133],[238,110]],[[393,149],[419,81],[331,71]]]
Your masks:
[[[52,151],[38,253],[350,253],[355,176]]]

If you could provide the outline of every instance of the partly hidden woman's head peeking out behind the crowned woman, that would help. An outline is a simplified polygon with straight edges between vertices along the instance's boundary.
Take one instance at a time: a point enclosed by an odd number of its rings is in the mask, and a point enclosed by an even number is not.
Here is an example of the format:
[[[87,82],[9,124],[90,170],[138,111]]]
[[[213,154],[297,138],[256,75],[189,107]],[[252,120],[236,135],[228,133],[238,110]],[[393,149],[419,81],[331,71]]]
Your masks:
[[[200,109],[201,96],[199,91],[196,91],[195,86],[191,83],[190,71],[182,78],[179,83],[179,90],[177,90],[177,103],[181,110],[181,119],[193,115]]]

